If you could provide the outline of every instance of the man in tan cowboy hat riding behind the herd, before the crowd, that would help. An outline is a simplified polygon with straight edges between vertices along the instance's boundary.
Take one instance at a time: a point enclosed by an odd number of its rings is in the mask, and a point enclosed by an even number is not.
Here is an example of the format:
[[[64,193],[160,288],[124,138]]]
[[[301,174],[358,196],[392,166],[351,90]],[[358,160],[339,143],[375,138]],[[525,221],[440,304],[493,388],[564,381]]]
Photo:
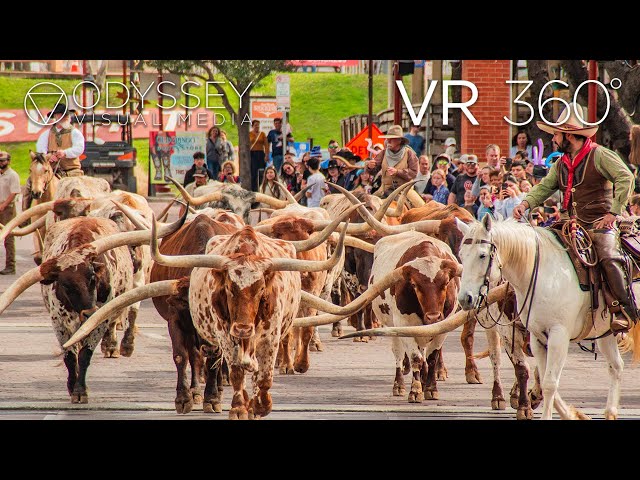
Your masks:
[[[378,171],[381,172],[382,183],[374,195],[386,198],[400,185],[416,178],[418,156],[408,146],[409,140],[403,135],[400,125],[393,125],[386,135],[380,135],[380,138],[387,139],[387,147],[367,162],[367,169],[372,176]]]

